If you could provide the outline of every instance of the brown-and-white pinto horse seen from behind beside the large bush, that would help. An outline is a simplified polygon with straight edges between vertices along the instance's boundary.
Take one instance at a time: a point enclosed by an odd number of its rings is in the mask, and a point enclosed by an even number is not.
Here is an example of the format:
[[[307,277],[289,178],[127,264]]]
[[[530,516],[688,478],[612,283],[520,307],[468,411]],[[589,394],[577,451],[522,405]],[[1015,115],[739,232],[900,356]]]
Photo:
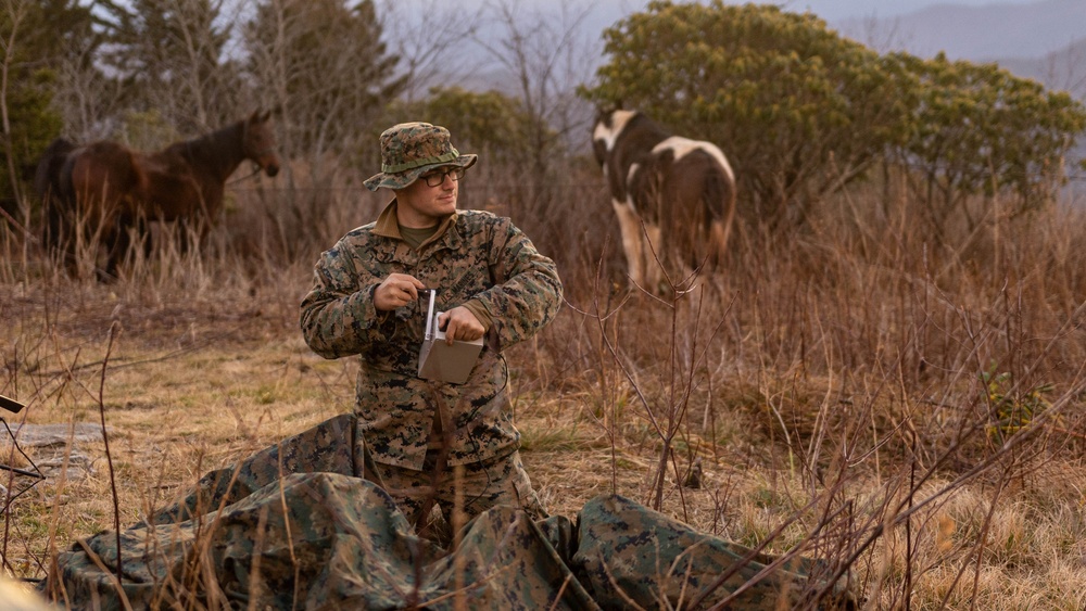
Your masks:
[[[596,118],[592,148],[631,281],[656,293],[665,270],[685,275],[720,263],[735,216],[735,176],[716,144],[673,136],[643,113],[619,110]]]

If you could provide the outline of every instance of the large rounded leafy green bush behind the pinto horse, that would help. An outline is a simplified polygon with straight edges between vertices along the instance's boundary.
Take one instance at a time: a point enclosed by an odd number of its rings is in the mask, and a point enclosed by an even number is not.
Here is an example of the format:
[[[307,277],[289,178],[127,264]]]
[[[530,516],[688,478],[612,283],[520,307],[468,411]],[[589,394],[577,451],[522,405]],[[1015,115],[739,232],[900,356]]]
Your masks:
[[[771,228],[804,222],[905,135],[896,73],[811,14],[654,1],[604,39],[609,61],[582,96],[717,143],[745,214]]]

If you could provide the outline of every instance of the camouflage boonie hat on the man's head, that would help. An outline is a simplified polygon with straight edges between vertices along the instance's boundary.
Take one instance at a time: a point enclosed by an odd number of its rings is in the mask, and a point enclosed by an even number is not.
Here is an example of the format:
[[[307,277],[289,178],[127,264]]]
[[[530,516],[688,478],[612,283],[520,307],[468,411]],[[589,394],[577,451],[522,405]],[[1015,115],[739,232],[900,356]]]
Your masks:
[[[428,169],[455,165],[471,167],[477,155],[453,148],[449,130],[428,123],[401,123],[381,133],[381,173],[366,179],[366,189],[403,189]]]

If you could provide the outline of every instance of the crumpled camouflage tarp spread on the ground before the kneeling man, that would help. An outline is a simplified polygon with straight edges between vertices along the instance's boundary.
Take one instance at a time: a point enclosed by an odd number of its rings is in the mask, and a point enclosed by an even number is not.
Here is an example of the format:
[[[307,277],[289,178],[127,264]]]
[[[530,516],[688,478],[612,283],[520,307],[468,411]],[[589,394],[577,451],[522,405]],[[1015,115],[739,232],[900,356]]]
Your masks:
[[[334,418],[211,472],[177,505],[121,533],[121,588],[117,533],[106,531],[60,553],[43,590],[78,609],[687,608],[725,571],[737,569],[704,606],[772,561],[758,555],[735,567],[747,549],[617,495],[590,500],[576,521],[495,508],[445,550],[356,476],[365,453],[354,423]],[[729,608],[793,608],[818,589],[809,577],[817,564],[790,567]]]

